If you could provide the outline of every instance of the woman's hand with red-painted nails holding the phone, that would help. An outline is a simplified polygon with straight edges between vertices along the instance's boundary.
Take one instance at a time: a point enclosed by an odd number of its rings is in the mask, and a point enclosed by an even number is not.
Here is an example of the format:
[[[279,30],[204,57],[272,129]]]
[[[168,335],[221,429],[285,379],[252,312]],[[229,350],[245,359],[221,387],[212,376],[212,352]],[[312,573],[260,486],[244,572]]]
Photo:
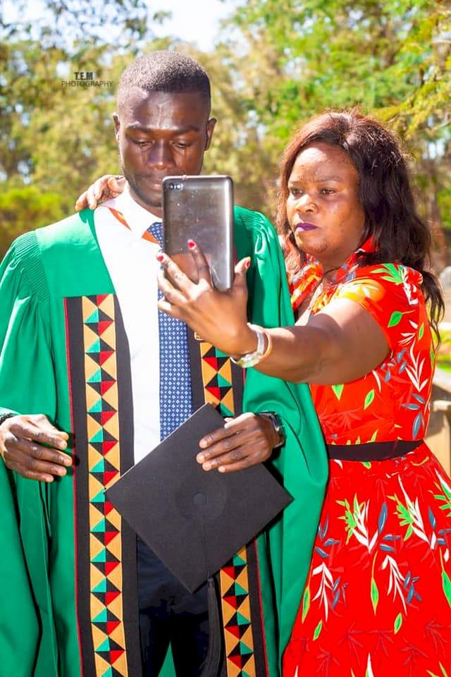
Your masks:
[[[157,258],[162,270],[158,282],[164,298],[159,301],[159,309],[182,319],[204,341],[227,355],[252,353],[257,348],[257,337],[247,327],[249,257],[235,266],[233,286],[227,291],[216,291],[201,248],[192,240],[188,244],[198,281],[194,283],[168,255],[160,252]]]

